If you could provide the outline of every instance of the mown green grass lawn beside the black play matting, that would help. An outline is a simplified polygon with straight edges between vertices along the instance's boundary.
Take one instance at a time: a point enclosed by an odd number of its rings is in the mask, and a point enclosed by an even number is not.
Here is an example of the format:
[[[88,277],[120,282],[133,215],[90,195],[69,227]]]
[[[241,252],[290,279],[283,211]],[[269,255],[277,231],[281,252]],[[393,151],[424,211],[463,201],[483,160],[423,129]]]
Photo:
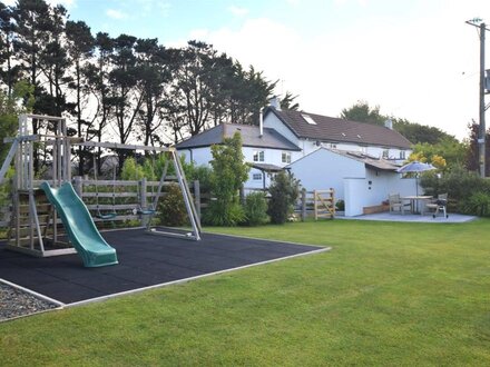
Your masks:
[[[0,324],[0,365],[490,365],[490,220],[213,230],[333,249]]]

